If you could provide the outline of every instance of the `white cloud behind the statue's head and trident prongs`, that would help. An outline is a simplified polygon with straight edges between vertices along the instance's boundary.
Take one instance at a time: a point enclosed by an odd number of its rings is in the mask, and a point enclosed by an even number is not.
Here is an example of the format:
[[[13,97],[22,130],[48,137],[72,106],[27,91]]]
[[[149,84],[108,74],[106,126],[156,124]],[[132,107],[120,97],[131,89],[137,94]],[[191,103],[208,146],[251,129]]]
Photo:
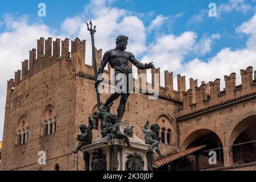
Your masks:
[[[144,24],[138,16],[132,15],[129,11],[110,7],[112,1],[90,1],[89,5],[85,7],[85,12],[74,17],[66,19],[62,27],[72,27],[77,24],[75,28],[66,32],[71,39],[78,36],[80,39],[86,41],[86,52],[91,52],[92,46],[90,41],[90,34],[87,30],[85,22],[92,20],[96,27],[95,44],[96,48],[104,48],[104,51],[115,47],[115,38],[118,35],[129,36],[129,44],[127,49],[135,55],[139,55],[145,51],[146,47],[146,30]],[[86,54],[86,64],[91,64],[92,55]]]

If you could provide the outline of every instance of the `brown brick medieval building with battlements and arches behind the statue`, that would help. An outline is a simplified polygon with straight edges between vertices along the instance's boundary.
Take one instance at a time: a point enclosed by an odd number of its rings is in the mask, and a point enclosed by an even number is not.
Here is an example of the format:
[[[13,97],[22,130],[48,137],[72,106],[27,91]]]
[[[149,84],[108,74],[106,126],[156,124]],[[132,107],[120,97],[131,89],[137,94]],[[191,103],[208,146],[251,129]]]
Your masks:
[[[7,82],[2,170],[84,169],[81,152],[75,155],[72,150],[78,126],[88,124],[88,115],[97,110],[93,64],[85,64],[85,43],[78,38],[40,38],[29,60],[22,62],[22,71]],[[97,68],[101,59],[102,50],[96,50]],[[105,73],[110,75],[109,67]],[[224,78],[223,91],[220,79],[198,85],[192,78],[186,90],[185,76],[177,75],[174,90],[173,74],[165,71],[157,100],[148,100],[150,89],[131,94],[123,121],[134,126],[134,134],[144,139],[142,126],[147,120],[160,126],[164,157],[156,159],[156,170],[256,169],[253,68],[241,70],[241,85],[236,85],[236,73]],[[141,85],[134,90],[142,92]],[[101,94],[101,100],[108,96]],[[93,139],[100,137],[100,122],[97,125]],[[46,152],[45,165],[38,164],[40,151]],[[210,164],[212,155],[216,161]]]

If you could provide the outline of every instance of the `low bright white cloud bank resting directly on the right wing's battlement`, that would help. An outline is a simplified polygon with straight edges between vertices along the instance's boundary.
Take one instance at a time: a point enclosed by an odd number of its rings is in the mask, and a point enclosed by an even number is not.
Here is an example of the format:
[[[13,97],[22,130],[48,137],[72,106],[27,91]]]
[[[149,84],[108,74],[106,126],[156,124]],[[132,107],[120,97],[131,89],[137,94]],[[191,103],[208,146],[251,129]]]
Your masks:
[[[248,49],[232,51],[230,48],[224,48],[208,61],[193,59],[184,64],[180,73],[198,79],[199,81],[214,81],[221,79],[221,88],[225,87],[224,76],[230,73],[237,73],[237,85],[241,83],[240,69],[246,69],[250,65],[256,65],[256,52]],[[188,89],[188,86],[187,86]]]

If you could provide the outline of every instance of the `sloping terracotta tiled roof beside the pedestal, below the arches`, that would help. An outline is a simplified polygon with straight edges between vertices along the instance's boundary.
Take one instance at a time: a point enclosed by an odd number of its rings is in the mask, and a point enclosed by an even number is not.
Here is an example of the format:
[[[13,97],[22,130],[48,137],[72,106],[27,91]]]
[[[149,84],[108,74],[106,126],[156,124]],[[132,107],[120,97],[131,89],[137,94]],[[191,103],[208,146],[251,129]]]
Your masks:
[[[164,166],[165,164],[173,162],[174,160],[177,160],[177,159],[183,158],[184,156],[193,154],[194,152],[199,151],[204,147],[205,146],[189,148],[189,149],[186,149],[186,150],[183,150],[183,151],[176,152],[175,154],[166,156],[164,158],[158,159],[154,162],[155,167]]]

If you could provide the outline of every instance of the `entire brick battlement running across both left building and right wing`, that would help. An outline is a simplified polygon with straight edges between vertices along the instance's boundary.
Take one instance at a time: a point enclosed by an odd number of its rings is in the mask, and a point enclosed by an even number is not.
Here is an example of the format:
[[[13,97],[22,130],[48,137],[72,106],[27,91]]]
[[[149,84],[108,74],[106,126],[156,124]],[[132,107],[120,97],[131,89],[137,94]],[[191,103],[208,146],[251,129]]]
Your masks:
[[[69,50],[70,43],[71,50]],[[75,71],[77,75],[94,78],[93,61],[92,65],[85,64],[85,46],[86,40],[81,41],[79,38],[72,41],[69,41],[68,38],[65,40],[52,40],[52,38],[46,40],[40,38],[37,40],[37,49],[31,49],[29,59],[22,61],[22,70],[16,71],[14,80],[8,81],[7,97],[14,92],[15,87],[20,82],[46,69],[57,61],[67,61],[72,65],[73,72]],[[101,60],[102,49],[96,49],[97,68],[100,66]],[[108,70],[105,73],[109,75],[109,81],[111,81],[110,65],[108,65]],[[144,73],[144,77],[141,76],[142,73]],[[207,84],[203,81],[200,86],[198,86],[197,80],[190,78],[189,89],[186,91],[185,76],[177,75],[177,90],[174,90],[174,76],[172,72],[164,71],[164,86],[160,86],[160,68],[152,68],[151,73],[152,82],[147,82],[146,70],[138,69],[138,78],[134,78],[134,89],[151,94],[152,90],[150,88],[158,86],[160,97],[179,101],[180,103],[183,101],[183,108],[178,113],[180,116],[256,92],[256,84],[253,81],[253,67],[248,67],[246,70],[241,69],[241,85],[236,85],[236,73],[224,76],[225,89],[222,91],[220,90],[219,78]],[[159,81],[158,85],[154,85],[155,80]],[[146,88],[143,88],[142,81],[147,82]]]

